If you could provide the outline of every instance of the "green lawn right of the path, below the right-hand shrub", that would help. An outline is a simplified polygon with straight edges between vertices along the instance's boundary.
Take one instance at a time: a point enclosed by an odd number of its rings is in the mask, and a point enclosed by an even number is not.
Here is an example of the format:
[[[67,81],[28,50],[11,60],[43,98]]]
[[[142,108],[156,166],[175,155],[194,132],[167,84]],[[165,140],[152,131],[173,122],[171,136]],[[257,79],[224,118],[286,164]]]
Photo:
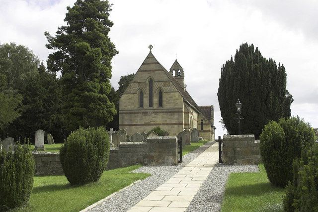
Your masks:
[[[263,164],[257,173],[231,173],[226,185],[222,212],[283,210],[285,189],[273,186],[267,179]]]

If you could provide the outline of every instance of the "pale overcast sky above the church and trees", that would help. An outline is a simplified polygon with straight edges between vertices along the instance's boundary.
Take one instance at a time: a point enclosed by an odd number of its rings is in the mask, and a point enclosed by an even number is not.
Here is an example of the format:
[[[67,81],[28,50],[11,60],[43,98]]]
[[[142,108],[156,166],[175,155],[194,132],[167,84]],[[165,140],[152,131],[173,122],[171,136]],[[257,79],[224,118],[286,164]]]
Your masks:
[[[64,24],[75,0],[0,0],[0,43],[15,42],[46,61],[44,31]],[[221,66],[247,42],[284,64],[292,115],[318,128],[318,1],[316,0],[111,0],[112,85],[135,73],[153,54],[169,69],[175,53],[187,91],[200,106],[214,105],[216,137],[223,135],[217,99]],[[244,109],[244,103],[243,108]],[[233,105],[234,106],[234,105]],[[243,124],[243,123],[242,123]]]

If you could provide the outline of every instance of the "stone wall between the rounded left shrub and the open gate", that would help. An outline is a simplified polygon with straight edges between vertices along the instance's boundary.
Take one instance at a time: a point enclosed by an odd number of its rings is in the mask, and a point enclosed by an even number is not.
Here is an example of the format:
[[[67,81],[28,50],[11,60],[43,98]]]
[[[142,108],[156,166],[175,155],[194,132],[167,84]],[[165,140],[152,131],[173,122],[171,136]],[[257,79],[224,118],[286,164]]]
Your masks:
[[[177,138],[175,136],[148,137],[146,142],[121,142],[111,148],[107,169],[143,165],[177,165]]]

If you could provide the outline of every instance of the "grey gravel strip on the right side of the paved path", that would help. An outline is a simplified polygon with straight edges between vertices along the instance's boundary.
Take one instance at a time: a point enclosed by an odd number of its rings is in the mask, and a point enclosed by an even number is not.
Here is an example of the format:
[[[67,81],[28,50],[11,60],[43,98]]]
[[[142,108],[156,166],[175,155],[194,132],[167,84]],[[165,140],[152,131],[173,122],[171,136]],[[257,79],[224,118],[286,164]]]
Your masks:
[[[223,165],[217,163],[194,196],[186,212],[221,211],[225,184],[232,172],[258,172],[258,167],[257,165]]]

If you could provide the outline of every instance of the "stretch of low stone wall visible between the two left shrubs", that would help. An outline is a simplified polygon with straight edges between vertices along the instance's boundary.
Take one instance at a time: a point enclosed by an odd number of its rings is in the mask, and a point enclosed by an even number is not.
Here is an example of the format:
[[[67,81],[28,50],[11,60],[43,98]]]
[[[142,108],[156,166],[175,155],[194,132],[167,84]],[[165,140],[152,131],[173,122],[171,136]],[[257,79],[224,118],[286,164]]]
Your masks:
[[[35,160],[35,175],[64,175],[59,152],[32,152]]]

